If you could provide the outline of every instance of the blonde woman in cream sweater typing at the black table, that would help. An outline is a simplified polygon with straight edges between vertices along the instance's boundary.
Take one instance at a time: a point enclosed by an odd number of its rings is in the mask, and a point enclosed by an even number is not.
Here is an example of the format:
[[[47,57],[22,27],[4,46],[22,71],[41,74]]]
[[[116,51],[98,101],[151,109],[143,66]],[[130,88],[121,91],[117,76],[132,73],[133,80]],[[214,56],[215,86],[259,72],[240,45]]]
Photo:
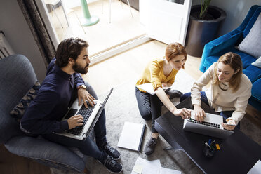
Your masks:
[[[242,69],[240,55],[232,52],[225,53],[198,81],[194,82],[191,93],[181,96],[180,102],[191,95],[197,121],[203,121],[206,116],[201,108],[201,101],[203,101],[226,119],[227,123],[222,123],[225,129],[239,128],[238,123],[246,114],[252,88],[252,83],[242,73]],[[210,88],[206,92],[201,91],[209,82]]]

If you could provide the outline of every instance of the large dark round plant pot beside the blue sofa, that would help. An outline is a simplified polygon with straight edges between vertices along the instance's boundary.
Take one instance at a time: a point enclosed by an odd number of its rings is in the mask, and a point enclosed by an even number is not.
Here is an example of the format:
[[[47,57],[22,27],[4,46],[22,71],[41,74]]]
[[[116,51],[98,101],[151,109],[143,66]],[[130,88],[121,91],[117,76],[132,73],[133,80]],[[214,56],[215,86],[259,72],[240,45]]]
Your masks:
[[[226,13],[215,6],[208,6],[209,20],[199,20],[196,16],[200,13],[201,5],[192,6],[189,16],[189,27],[185,48],[189,55],[201,57],[205,44],[217,36],[217,31],[222,20],[226,18]]]

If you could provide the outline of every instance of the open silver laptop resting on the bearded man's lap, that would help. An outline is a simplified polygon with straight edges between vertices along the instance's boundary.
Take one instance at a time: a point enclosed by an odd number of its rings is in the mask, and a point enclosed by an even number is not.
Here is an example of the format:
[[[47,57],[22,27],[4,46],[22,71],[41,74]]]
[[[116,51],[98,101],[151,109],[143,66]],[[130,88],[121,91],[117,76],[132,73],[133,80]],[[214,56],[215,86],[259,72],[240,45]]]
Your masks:
[[[69,119],[71,116],[80,114],[81,116],[83,116],[83,125],[56,134],[64,135],[78,140],[83,140],[84,138],[86,138],[95,126],[97,120],[99,119],[100,114],[102,113],[102,110],[112,93],[112,90],[113,88],[109,91],[109,94],[103,102],[101,102],[100,100],[94,100],[95,104],[93,107],[89,103],[88,108],[86,108],[83,104],[78,106],[78,98],[76,98],[72,106],[69,108],[68,112],[63,117],[62,121]]]

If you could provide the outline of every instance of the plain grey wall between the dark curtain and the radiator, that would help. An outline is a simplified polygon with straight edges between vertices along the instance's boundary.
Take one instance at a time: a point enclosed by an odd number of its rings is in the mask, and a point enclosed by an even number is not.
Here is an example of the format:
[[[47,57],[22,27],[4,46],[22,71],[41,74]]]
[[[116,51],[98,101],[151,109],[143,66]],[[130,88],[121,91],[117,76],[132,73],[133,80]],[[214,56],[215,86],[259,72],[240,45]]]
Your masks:
[[[6,35],[13,51],[25,55],[30,60],[37,79],[43,81],[46,76],[44,60],[18,2],[16,0],[0,0],[0,4],[0,30]]]

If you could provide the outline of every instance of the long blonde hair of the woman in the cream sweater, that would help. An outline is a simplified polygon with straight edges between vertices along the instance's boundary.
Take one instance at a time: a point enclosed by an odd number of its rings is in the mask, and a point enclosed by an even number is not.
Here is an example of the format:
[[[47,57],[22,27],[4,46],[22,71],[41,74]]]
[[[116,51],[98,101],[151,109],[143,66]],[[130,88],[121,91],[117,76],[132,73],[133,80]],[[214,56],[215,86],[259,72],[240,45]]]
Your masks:
[[[218,62],[222,62],[225,65],[229,65],[234,69],[234,74],[232,78],[229,80],[229,87],[232,88],[233,92],[236,92],[239,89],[239,84],[241,82],[241,76],[242,76],[242,60],[240,55],[236,53],[225,53],[224,55],[220,56],[218,59]],[[239,70],[238,72],[236,72]],[[214,73],[214,78],[213,78],[213,84],[218,84],[219,80],[217,77],[217,67],[215,67],[215,73]]]

